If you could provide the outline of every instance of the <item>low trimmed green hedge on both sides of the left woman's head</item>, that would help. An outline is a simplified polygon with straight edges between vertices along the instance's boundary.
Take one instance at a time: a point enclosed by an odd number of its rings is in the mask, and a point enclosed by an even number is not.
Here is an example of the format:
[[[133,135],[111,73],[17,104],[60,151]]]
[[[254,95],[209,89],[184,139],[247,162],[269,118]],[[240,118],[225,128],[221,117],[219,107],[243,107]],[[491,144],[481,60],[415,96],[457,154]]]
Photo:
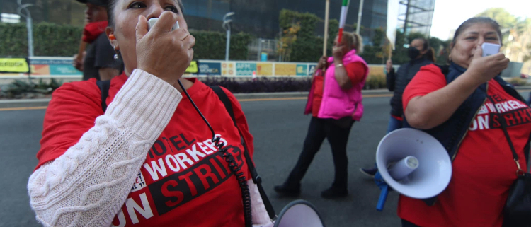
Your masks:
[[[33,48],[35,56],[69,57],[79,49],[82,28],[53,23],[33,25]],[[225,59],[225,33],[196,31],[195,59]],[[253,37],[246,33],[231,36],[230,59],[246,60],[247,46]],[[0,23],[0,56],[28,56],[28,32],[25,23]]]

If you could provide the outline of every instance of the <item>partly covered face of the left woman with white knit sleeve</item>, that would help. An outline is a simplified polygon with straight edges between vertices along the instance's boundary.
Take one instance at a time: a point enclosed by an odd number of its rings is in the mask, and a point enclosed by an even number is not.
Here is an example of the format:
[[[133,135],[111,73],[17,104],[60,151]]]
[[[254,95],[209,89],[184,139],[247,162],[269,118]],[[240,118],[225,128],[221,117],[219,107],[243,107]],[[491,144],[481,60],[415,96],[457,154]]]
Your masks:
[[[115,49],[120,50],[125,64],[126,74],[137,68],[137,38],[136,26],[138,16],[143,15],[147,20],[159,18],[164,11],[171,11],[181,28],[188,29],[177,0],[116,0],[114,28],[108,30],[108,35],[114,34],[116,40],[111,41]]]

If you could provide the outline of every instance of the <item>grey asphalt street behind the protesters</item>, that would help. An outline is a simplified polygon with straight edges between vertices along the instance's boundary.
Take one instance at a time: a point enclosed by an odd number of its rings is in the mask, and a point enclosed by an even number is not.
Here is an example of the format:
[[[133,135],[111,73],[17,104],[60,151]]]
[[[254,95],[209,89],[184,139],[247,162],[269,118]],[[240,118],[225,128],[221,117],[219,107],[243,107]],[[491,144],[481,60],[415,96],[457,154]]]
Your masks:
[[[525,94],[527,97],[527,94]],[[254,160],[277,213],[293,199],[279,198],[273,186],[282,183],[302,149],[310,117],[302,115],[305,100],[249,101],[241,105],[255,136]],[[302,181],[301,199],[319,209],[326,226],[399,226],[397,194],[386,209],[375,210],[379,190],[358,168],[372,165],[389,117],[389,97],[365,98],[365,117],[354,124],[348,144],[350,196],[326,200],[321,190],[331,185],[333,164],[325,141]],[[37,160],[45,110],[0,111],[0,226],[38,226],[28,205],[26,184]],[[220,207],[221,209],[221,207]]]

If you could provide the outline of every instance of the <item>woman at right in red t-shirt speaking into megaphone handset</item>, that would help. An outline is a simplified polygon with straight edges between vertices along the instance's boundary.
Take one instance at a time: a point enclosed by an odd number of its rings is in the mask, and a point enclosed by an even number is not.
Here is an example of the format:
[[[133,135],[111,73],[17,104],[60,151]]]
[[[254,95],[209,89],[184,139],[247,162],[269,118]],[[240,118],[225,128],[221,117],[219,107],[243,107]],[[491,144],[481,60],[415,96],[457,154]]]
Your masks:
[[[486,98],[471,99],[480,107],[471,110],[476,115],[472,122],[465,123],[465,127],[469,126],[467,132],[451,157],[452,180],[435,204],[428,206],[418,199],[400,197],[398,214],[403,226],[503,224],[503,207],[518,168],[498,121],[503,118],[508,122],[508,134],[525,170],[531,110],[498,83],[501,79],[497,76],[508,67],[509,59],[502,53],[481,57],[484,42],[501,45],[498,23],[491,18],[465,21],[450,45],[448,75],[455,74],[457,78],[447,83],[438,66],[425,66],[404,91],[406,119],[417,129],[434,129],[455,117],[452,115],[474,92],[485,94]]]

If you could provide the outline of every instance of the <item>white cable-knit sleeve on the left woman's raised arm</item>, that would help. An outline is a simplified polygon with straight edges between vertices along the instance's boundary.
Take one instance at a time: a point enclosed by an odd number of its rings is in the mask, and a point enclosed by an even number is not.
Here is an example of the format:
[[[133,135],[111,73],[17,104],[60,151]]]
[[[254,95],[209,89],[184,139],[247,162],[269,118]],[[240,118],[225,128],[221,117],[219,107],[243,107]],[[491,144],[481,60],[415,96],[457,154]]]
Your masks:
[[[169,83],[133,71],[94,127],[30,176],[37,220],[44,226],[110,226],[181,99]]]

